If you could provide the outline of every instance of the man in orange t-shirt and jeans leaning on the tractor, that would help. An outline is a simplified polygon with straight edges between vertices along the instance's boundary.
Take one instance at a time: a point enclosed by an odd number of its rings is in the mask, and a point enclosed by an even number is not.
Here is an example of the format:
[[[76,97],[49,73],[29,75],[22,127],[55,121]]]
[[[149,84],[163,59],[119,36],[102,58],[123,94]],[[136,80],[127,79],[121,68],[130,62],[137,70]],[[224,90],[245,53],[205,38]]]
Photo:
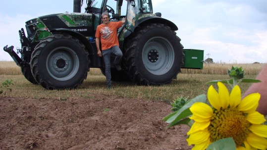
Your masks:
[[[103,56],[107,79],[107,89],[111,89],[110,58],[111,54],[115,55],[113,65],[118,71],[120,71],[120,59],[122,57],[122,52],[119,49],[117,29],[125,23],[125,18],[119,22],[109,22],[110,16],[107,12],[104,12],[101,15],[101,18],[103,23],[97,27],[96,31],[97,54],[100,57]],[[102,52],[100,50],[100,41]]]

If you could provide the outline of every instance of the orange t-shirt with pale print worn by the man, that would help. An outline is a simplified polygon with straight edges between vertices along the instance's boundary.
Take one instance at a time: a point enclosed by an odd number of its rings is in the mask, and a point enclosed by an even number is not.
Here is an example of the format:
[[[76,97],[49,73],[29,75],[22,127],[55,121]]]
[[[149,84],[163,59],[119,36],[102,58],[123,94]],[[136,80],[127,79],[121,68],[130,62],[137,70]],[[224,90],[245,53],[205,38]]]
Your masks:
[[[117,29],[122,26],[121,21],[103,23],[97,27],[96,38],[100,38],[102,50],[107,50],[113,46],[119,47]]]

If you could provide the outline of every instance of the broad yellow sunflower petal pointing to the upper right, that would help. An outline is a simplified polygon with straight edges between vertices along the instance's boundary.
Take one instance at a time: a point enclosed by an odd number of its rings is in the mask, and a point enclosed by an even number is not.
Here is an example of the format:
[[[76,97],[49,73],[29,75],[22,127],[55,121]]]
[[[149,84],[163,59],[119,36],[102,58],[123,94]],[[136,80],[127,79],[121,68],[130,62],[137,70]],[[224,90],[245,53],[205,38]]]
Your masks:
[[[256,111],[260,98],[261,95],[259,93],[250,94],[241,100],[237,108],[239,111],[243,111],[244,113],[252,113]]]

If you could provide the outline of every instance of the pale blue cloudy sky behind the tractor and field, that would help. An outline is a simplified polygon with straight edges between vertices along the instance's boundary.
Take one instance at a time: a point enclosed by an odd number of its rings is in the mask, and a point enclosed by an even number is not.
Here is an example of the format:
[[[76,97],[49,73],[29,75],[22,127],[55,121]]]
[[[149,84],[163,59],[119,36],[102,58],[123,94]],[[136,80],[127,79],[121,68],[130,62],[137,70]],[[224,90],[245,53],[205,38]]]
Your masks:
[[[218,63],[267,62],[267,0],[152,3],[154,12],[178,26],[185,49],[205,50],[204,57]],[[12,60],[2,50],[5,45],[20,48],[18,30],[25,28],[25,21],[65,11],[73,11],[73,0],[5,0],[0,5],[0,60]]]

